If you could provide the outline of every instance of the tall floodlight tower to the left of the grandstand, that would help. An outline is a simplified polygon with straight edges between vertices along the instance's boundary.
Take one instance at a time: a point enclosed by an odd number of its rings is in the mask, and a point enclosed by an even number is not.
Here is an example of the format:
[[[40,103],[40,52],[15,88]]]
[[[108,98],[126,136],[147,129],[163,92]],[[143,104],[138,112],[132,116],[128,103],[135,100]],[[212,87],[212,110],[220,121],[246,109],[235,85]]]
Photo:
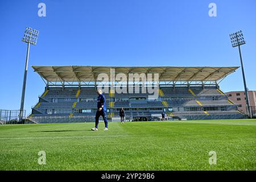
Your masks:
[[[27,43],[27,57],[26,57],[26,64],[24,70],[24,78],[23,78],[23,87],[22,87],[22,99],[20,103],[20,113],[19,113],[19,121],[22,121],[23,118],[23,109],[24,109],[24,97],[25,97],[25,90],[26,90],[26,81],[27,81],[27,65],[28,65],[28,56],[30,55],[30,44],[36,45],[36,41],[38,39],[38,30],[34,30],[30,27],[27,27],[22,41]]]

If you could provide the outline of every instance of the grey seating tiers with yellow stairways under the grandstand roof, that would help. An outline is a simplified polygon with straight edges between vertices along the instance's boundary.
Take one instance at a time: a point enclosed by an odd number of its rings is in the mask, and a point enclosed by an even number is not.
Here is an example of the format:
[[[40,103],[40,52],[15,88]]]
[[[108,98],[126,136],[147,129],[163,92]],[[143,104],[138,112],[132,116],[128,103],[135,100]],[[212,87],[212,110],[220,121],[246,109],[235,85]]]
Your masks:
[[[97,111],[96,88],[49,87],[39,102],[32,107],[31,120],[35,122],[92,122]],[[141,88],[140,88],[141,92]],[[233,119],[245,117],[237,106],[216,86],[160,86],[159,98],[148,100],[147,93],[105,94],[111,117],[125,109],[126,118],[137,121],[158,119],[162,110],[168,118]],[[110,102],[111,101],[111,102]],[[110,118],[109,118],[110,119]]]

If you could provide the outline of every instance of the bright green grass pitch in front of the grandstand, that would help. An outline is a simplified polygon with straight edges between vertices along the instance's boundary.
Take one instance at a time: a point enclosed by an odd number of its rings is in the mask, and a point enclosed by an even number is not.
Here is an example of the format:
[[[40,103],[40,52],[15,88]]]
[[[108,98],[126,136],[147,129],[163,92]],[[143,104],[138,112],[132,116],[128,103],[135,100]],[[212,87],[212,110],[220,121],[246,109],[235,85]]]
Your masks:
[[[0,126],[0,170],[255,170],[256,120]],[[38,152],[46,152],[46,165]],[[210,165],[209,151],[217,164]]]

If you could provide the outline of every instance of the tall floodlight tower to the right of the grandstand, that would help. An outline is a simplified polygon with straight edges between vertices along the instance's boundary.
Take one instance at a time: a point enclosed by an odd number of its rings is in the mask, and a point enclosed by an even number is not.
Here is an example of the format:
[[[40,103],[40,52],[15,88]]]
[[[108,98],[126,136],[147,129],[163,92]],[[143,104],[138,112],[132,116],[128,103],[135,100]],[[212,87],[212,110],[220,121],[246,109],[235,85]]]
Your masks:
[[[233,34],[229,34],[229,36],[232,43],[232,47],[238,46],[238,49],[239,49],[241,68],[242,68],[242,74],[243,74],[243,86],[245,87],[245,100],[246,100],[246,106],[247,106],[247,113],[251,118],[250,102],[249,102],[249,97],[247,92],[247,86],[245,81],[245,71],[243,70],[243,60],[242,60],[242,54],[241,54],[241,48],[240,48],[240,46],[245,44],[245,39],[243,38],[243,33],[241,30]]]

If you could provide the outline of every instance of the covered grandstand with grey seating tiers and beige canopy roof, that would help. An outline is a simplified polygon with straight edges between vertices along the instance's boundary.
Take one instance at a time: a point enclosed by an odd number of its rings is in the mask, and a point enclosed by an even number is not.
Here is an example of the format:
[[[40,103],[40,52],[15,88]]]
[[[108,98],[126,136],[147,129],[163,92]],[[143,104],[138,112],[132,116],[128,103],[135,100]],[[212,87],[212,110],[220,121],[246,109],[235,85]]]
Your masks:
[[[115,121],[119,109],[126,111],[127,121],[155,121],[162,110],[168,119],[237,119],[246,115],[219,88],[219,83],[238,67],[89,67],[32,66],[46,84],[29,119],[37,123],[93,122],[97,111],[97,80],[100,73],[158,73],[159,97],[150,100],[148,93],[116,93],[120,84],[105,93],[108,117]],[[112,82],[109,82],[110,84]],[[142,81],[129,80],[129,87]],[[156,84],[155,84],[156,85]],[[127,88],[129,89],[129,88]]]

